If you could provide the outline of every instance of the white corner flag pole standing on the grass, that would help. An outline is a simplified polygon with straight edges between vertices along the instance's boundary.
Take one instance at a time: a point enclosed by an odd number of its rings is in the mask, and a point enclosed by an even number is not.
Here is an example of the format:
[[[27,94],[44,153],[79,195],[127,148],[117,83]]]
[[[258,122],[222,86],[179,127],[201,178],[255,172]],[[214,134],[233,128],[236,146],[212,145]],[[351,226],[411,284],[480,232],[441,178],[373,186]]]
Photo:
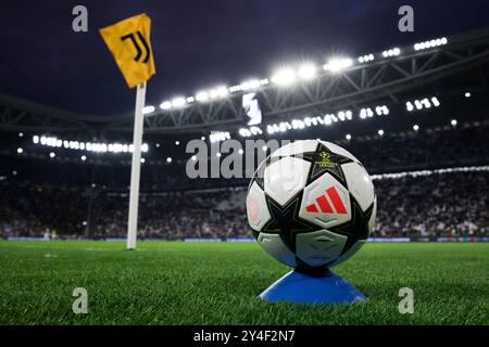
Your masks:
[[[134,112],[133,162],[130,168],[129,220],[127,222],[127,249],[136,248],[138,230],[139,177],[141,174],[141,142],[145,117],[146,82],[136,90],[136,108]]]

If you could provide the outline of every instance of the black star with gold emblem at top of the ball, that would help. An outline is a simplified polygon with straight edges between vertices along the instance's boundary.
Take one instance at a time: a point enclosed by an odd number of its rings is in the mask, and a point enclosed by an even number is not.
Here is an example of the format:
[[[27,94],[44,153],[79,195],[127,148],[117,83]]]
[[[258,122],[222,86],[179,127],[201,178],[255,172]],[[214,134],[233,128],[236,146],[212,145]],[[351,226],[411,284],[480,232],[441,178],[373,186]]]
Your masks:
[[[343,155],[330,151],[326,145],[319,143],[314,152],[304,152],[298,157],[311,163],[311,170],[308,178],[308,184],[328,172],[336,178],[343,187],[347,187],[341,165],[352,163],[353,160]]]

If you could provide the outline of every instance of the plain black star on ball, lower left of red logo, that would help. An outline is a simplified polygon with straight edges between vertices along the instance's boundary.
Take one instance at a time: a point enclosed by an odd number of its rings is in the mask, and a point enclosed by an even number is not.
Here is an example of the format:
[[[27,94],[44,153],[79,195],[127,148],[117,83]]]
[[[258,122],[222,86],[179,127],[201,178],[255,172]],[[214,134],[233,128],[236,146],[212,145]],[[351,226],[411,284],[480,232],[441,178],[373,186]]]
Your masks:
[[[268,233],[278,233],[284,243],[296,252],[296,235],[302,232],[321,230],[306,220],[299,217],[301,198],[300,195],[293,197],[286,205],[280,206],[273,198],[266,196],[266,204],[271,214],[271,219],[263,226],[262,231]]]

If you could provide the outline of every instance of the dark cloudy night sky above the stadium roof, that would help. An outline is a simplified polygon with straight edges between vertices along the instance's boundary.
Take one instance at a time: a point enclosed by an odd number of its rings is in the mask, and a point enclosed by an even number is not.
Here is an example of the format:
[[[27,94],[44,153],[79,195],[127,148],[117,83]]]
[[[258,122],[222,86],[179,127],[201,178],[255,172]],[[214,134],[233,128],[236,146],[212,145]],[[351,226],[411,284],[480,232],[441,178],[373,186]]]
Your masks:
[[[88,33],[72,30],[73,7],[88,9]],[[415,31],[398,30],[410,4]],[[489,1],[161,0],[3,1],[0,93],[87,114],[134,107],[98,29],[146,12],[156,75],[147,104],[204,88],[269,77],[287,63],[352,57],[489,25]]]

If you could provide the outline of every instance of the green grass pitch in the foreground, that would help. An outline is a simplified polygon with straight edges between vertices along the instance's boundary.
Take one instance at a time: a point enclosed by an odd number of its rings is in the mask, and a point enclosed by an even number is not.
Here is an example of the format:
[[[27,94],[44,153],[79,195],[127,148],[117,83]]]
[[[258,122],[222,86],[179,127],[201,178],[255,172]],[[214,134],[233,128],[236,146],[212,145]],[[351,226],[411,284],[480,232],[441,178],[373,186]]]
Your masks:
[[[0,324],[488,324],[489,244],[367,244],[335,268],[369,300],[269,304],[255,243],[0,242]],[[75,287],[88,313],[75,314]],[[398,310],[401,287],[414,313]]]

